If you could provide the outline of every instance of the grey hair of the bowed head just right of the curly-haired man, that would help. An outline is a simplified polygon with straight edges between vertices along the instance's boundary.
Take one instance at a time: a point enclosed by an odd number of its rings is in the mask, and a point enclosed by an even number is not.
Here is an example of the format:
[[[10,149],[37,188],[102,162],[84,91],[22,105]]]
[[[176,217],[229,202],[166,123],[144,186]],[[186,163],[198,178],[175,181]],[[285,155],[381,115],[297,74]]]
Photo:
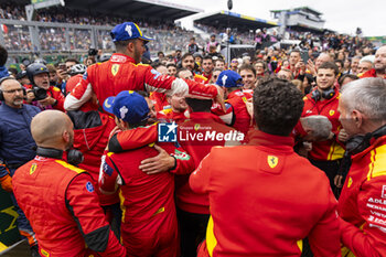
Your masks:
[[[305,128],[312,130],[315,138],[326,139],[332,130],[332,124],[329,118],[323,115],[312,115],[301,118],[301,124]]]

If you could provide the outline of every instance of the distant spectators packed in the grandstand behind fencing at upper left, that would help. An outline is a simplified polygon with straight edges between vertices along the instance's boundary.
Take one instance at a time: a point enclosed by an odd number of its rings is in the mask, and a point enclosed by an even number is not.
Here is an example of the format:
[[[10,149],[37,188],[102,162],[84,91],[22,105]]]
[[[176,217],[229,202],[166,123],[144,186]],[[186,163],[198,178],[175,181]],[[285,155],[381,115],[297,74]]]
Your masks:
[[[112,18],[105,14],[85,14],[77,10],[68,8],[49,8],[36,11],[34,21],[39,22],[61,22],[69,24],[81,25],[114,25],[124,22],[124,18]],[[0,17],[10,20],[25,21],[25,10],[23,6],[13,3],[7,3],[0,8]],[[146,28],[144,32],[157,41],[149,44],[150,49],[154,52],[163,51],[171,52],[175,49],[185,47],[185,39],[194,35],[193,32],[186,31],[171,23],[170,21],[150,21],[136,19],[140,26]],[[32,46],[31,35],[28,26],[20,25],[6,25],[3,29],[4,46],[9,51],[35,51]],[[68,30],[68,44],[66,42],[66,33],[64,28],[50,28],[42,26],[39,29],[39,39],[42,51],[74,51],[85,50],[92,45],[92,31],[90,30]],[[196,35],[195,35],[196,36]],[[204,43],[201,36],[196,36],[197,41]],[[97,45],[98,49],[112,52],[114,44],[109,35],[109,31],[97,31]]]

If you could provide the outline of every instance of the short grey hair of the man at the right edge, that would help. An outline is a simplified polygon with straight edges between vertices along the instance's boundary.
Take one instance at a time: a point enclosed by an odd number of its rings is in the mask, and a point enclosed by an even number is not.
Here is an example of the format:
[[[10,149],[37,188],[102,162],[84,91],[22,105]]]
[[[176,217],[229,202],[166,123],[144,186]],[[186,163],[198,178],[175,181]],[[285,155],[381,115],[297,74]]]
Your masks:
[[[368,77],[343,86],[342,100],[347,113],[357,110],[369,119],[386,121],[386,81]]]

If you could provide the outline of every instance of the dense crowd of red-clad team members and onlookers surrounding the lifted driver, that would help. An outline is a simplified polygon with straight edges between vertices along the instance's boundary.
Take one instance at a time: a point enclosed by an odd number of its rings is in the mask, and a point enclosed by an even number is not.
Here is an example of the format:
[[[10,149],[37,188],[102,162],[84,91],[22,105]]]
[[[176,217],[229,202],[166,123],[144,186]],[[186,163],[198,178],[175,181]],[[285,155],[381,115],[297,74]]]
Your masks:
[[[215,34],[164,54],[179,31],[139,28],[19,73],[0,47],[0,183],[32,256],[386,255],[386,46],[308,34],[227,63]]]

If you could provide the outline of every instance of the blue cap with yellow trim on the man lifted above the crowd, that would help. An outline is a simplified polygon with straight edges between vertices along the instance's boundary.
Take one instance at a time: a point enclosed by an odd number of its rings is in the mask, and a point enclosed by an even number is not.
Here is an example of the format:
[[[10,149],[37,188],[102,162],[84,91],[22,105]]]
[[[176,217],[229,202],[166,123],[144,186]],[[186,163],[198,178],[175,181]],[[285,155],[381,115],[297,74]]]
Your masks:
[[[151,38],[144,36],[139,26],[133,22],[125,22],[116,25],[111,30],[110,35],[114,42],[133,39],[141,39],[144,41],[153,40]]]

